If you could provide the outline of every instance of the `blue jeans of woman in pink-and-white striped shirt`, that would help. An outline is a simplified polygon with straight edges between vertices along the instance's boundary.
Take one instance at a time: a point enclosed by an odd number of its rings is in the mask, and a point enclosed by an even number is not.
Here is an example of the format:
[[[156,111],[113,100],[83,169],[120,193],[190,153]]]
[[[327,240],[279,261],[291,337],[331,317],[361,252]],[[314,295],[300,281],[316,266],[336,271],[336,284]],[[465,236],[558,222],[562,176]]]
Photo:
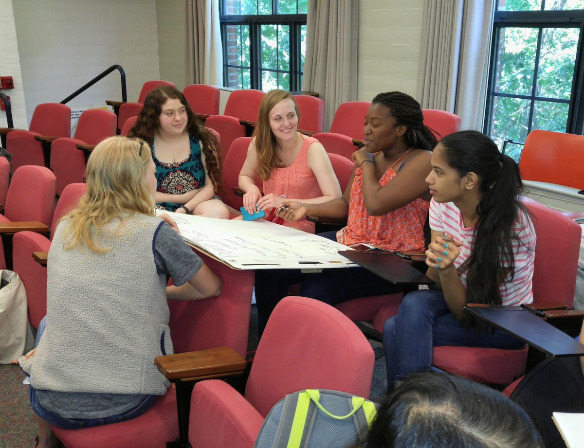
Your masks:
[[[401,381],[409,373],[427,372],[432,349],[439,345],[518,349],[524,343],[496,329],[478,335],[454,318],[440,291],[418,290],[407,294],[398,313],[383,324],[383,348],[387,384]]]

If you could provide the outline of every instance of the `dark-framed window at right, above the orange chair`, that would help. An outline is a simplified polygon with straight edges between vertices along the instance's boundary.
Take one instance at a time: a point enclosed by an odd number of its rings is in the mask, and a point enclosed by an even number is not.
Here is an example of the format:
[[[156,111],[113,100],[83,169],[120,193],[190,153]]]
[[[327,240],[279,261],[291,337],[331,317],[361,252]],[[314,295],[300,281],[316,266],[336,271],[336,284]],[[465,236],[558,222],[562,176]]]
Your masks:
[[[532,129],[582,134],[584,0],[498,0],[484,132],[519,160]],[[510,142],[513,141],[513,142]],[[509,144],[510,143],[510,144]]]

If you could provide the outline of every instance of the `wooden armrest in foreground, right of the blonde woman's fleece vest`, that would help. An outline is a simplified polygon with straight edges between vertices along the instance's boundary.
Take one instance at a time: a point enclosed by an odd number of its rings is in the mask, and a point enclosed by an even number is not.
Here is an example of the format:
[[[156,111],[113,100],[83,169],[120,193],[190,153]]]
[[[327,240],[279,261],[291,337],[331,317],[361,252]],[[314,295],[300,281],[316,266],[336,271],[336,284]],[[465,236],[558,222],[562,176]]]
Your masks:
[[[247,361],[230,347],[157,356],[154,365],[169,380],[192,381],[243,373]]]

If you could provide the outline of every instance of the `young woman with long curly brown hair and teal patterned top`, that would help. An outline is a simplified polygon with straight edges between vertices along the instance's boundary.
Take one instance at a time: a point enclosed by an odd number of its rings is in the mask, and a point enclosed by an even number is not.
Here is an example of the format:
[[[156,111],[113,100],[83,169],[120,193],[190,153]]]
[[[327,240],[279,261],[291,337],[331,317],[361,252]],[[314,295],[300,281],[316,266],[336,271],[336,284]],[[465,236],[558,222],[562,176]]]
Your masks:
[[[204,128],[180,90],[160,86],[144,100],[130,137],[150,144],[156,165],[156,206],[176,213],[229,218],[219,142]]]

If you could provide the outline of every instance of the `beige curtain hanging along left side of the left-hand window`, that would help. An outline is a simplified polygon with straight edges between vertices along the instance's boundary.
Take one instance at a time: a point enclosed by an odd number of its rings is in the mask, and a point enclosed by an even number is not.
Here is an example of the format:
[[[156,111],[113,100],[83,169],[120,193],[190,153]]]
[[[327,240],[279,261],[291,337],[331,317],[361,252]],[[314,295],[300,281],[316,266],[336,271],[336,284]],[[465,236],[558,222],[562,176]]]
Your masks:
[[[223,85],[219,0],[187,0],[186,84]]]

